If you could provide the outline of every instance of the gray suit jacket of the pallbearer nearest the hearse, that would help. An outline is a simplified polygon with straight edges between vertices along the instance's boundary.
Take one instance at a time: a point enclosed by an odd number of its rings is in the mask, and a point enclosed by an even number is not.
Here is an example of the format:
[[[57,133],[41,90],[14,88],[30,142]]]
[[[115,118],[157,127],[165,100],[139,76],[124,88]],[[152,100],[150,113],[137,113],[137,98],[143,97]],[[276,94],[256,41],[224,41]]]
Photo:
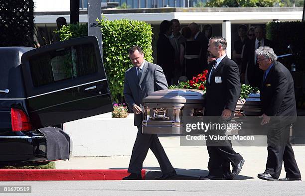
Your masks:
[[[142,70],[140,82],[138,81],[136,67],[128,69],[124,80],[124,97],[130,108],[135,104],[140,106],[143,98],[152,92],[167,89],[167,82],[160,66],[145,62]],[[135,114],[135,126],[142,124],[143,113]]]

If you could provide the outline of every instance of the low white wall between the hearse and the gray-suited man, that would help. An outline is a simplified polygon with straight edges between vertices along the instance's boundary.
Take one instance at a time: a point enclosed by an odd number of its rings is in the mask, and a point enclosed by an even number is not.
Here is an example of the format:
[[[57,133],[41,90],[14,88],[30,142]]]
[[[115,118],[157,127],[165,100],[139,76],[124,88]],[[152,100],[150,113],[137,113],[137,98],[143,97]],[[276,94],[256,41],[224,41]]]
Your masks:
[[[67,122],[64,130],[73,140],[73,156],[131,155],[138,129],[134,114],[112,118],[111,112]]]

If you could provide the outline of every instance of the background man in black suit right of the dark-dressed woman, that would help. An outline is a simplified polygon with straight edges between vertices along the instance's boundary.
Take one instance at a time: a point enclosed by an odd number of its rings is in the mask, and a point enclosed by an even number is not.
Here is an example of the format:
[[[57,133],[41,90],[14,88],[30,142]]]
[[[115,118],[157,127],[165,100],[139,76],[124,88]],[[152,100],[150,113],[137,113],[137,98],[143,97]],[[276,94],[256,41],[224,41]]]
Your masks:
[[[198,73],[201,73],[203,70],[207,69],[207,48],[209,41],[204,36],[204,33],[202,33],[199,29],[199,25],[195,22],[192,22],[188,25],[188,27],[192,31],[192,37],[195,41],[198,41],[201,45],[200,49],[200,70],[198,70]]]

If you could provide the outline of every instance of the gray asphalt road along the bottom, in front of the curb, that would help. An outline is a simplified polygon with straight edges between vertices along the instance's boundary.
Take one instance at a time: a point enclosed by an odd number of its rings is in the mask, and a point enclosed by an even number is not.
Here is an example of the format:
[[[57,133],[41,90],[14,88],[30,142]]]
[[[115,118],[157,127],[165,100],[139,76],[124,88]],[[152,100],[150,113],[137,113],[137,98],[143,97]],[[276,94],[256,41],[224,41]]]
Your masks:
[[[0,186],[31,186],[34,196],[98,195],[305,195],[305,182],[280,181],[35,181],[0,182]]]

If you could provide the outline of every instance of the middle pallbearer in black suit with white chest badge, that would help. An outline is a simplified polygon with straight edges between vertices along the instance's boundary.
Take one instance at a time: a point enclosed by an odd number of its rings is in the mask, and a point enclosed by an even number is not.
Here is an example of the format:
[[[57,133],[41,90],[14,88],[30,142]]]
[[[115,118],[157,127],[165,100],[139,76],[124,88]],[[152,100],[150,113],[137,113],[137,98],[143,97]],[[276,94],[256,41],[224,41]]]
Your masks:
[[[229,120],[234,115],[241,91],[238,66],[227,57],[226,48],[227,42],[223,37],[212,37],[209,40],[208,51],[216,60],[208,68],[204,116],[213,121],[219,117]],[[221,130],[210,130],[209,135],[216,132],[224,134]],[[208,139],[206,145],[210,156],[209,175],[201,177],[201,180],[231,180],[241,171],[245,160],[233,150],[230,140]]]

